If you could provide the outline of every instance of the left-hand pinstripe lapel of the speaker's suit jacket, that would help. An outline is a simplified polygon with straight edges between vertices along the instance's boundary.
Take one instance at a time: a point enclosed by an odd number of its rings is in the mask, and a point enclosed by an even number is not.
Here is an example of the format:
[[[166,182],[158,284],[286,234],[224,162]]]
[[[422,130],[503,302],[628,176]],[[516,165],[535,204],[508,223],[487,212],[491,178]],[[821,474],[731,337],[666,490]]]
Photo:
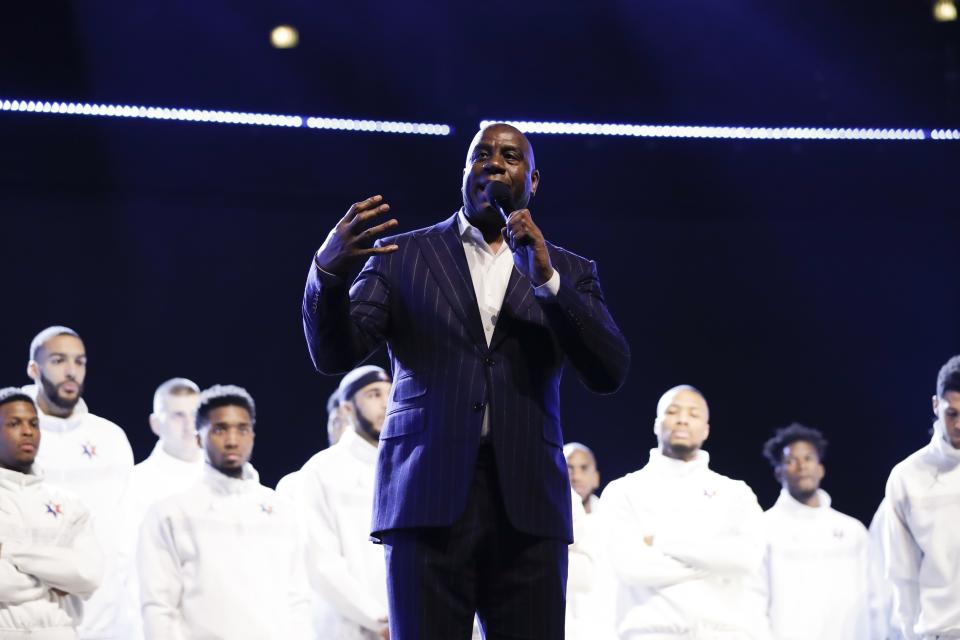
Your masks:
[[[467,331],[480,345],[486,347],[477,294],[473,289],[470,267],[463,252],[463,242],[454,215],[438,226],[438,233],[416,236],[420,249],[433,272],[440,290],[460,316]]]

